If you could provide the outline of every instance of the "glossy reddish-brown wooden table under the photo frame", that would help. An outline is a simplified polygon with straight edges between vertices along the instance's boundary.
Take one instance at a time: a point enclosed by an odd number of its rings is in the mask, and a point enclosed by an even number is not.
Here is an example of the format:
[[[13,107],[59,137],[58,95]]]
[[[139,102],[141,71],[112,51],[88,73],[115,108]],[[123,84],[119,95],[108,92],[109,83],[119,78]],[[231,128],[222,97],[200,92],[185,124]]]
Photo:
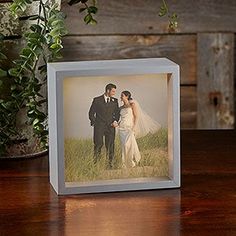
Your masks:
[[[48,157],[0,160],[0,235],[236,235],[236,132],[182,131],[182,187],[58,197]]]

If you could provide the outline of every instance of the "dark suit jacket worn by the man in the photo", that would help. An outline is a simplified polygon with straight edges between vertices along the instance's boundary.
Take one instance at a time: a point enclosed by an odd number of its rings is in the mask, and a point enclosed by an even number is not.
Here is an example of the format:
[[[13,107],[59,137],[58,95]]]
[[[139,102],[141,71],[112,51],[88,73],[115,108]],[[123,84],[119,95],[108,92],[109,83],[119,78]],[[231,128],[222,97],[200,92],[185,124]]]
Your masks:
[[[95,97],[89,109],[89,119],[91,125],[110,125],[115,120],[119,121],[120,109],[118,105],[118,99],[112,97],[110,102],[106,103],[104,95]]]

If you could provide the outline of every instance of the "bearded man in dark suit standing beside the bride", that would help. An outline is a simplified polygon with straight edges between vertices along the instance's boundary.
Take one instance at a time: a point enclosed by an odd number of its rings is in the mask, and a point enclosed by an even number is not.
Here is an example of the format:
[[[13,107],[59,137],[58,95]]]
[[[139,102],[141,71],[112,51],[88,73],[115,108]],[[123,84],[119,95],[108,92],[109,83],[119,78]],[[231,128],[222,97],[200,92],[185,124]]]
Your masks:
[[[115,93],[116,85],[108,84],[105,88],[105,93],[95,97],[89,109],[90,123],[94,127],[94,161],[96,163],[101,156],[103,137],[105,137],[109,167],[112,167],[114,158],[115,127],[120,119],[118,99],[113,97]]]

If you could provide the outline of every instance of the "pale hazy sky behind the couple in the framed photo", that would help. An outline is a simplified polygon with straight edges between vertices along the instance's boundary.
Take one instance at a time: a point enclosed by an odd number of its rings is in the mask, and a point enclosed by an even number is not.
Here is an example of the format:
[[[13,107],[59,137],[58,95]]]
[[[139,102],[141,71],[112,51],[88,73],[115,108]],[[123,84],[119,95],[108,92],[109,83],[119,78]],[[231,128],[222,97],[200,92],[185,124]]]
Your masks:
[[[131,92],[141,108],[163,127],[167,127],[166,74],[69,77],[63,82],[64,137],[92,138],[93,127],[88,118],[93,98],[104,93],[105,86],[117,86],[115,98],[124,90]]]

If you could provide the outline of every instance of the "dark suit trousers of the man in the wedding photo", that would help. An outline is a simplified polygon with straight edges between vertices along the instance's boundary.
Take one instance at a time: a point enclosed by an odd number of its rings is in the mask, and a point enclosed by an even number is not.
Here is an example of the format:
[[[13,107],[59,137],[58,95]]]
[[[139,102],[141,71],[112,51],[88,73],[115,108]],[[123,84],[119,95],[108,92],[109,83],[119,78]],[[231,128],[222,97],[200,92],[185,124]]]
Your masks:
[[[104,137],[106,156],[109,157],[109,164],[111,165],[114,158],[115,128],[104,123],[95,124],[93,136],[95,162],[98,161],[101,157],[101,149],[104,144]]]

